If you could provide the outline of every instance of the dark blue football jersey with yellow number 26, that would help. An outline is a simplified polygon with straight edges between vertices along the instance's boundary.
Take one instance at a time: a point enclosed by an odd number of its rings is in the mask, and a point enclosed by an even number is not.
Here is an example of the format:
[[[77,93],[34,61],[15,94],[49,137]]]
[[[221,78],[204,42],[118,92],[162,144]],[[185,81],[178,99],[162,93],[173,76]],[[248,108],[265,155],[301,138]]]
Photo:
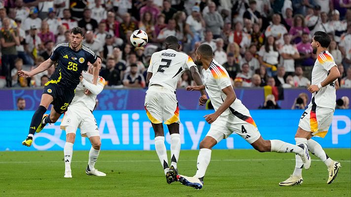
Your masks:
[[[70,48],[70,43],[66,42],[54,48],[50,59],[57,61],[58,65],[45,86],[52,83],[65,89],[75,89],[79,84],[80,73],[88,67],[88,62],[94,64],[97,56],[84,45],[78,51],[74,51]]]

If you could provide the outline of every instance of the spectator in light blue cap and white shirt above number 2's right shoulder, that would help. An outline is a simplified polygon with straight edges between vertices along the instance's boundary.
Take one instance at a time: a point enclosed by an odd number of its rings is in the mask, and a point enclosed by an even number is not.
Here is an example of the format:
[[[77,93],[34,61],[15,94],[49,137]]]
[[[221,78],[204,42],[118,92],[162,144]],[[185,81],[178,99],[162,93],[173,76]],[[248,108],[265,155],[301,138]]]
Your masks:
[[[188,31],[188,40],[190,40],[191,48],[193,48],[195,42],[199,42],[203,39],[203,30],[206,26],[199,6],[193,6],[191,8],[191,14],[186,18],[186,24],[189,25],[190,31]]]

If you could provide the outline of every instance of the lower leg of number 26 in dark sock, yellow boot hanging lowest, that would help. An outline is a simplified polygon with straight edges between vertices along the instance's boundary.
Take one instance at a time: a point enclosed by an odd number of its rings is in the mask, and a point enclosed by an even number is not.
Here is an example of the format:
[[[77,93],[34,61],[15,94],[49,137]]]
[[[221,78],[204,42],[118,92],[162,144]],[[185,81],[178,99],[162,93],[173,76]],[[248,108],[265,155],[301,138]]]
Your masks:
[[[38,129],[40,129],[39,126],[43,120],[43,115],[46,112],[47,108],[49,107],[50,103],[53,101],[53,99],[54,98],[48,94],[43,94],[41,96],[39,107],[35,111],[32,117],[32,122],[30,125],[28,136],[26,140],[22,142],[23,145],[28,147],[32,145],[34,133],[35,131],[38,131]]]

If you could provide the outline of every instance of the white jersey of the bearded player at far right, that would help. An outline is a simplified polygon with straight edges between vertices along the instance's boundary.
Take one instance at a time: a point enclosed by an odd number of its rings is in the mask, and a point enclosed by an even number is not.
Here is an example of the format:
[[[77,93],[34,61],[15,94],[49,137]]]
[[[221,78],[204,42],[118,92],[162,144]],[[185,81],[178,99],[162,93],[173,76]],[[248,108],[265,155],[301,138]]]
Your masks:
[[[312,85],[318,85],[324,81],[333,66],[336,66],[333,56],[328,51],[322,51],[318,55],[315,66],[313,66]],[[335,82],[333,82],[321,88],[318,92],[313,93],[312,98],[315,98],[314,101],[319,107],[335,109],[335,91]]]

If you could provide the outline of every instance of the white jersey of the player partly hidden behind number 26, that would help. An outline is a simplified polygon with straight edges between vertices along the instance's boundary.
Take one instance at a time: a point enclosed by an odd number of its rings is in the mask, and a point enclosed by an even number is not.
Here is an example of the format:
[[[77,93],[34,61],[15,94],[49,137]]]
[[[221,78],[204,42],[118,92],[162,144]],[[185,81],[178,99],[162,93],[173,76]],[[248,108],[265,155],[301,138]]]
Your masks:
[[[82,75],[83,80],[79,82],[75,88],[75,95],[70,105],[87,107],[90,111],[93,111],[96,104],[95,99],[104,89],[105,79],[99,76],[97,85],[93,85],[92,74],[88,73],[87,71],[83,71]],[[88,89],[86,86],[89,87],[91,92],[90,95],[85,95],[85,91]]]

